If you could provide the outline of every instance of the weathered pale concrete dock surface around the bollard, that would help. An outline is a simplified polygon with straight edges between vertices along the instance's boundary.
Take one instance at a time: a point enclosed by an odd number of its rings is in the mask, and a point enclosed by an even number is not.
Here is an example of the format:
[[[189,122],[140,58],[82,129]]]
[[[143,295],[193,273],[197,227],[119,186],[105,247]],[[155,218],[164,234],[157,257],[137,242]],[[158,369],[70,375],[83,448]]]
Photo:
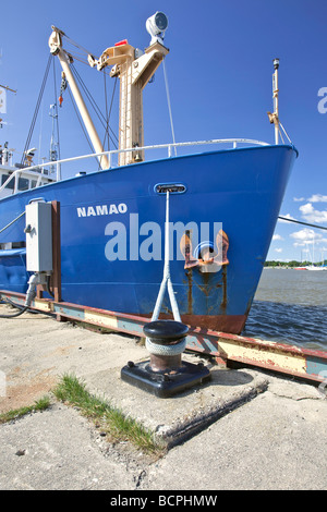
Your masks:
[[[183,354],[203,361],[211,381],[161,399],[120,378],[129,361],[148,357],[137,339],[32,313],[0,318],[0,413],[32,405],[73,374],[168,447],[152,461],[129,443],[108,442],[77,410],[53,400],[0,425],[1,490],[327,488],[327,399],[317,385]]]

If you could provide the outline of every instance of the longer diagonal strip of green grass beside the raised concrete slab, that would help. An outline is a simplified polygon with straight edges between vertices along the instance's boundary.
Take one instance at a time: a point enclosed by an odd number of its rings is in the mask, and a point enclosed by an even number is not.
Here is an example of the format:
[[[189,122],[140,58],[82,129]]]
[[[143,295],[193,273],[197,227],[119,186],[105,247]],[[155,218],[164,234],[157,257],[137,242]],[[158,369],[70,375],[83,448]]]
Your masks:
[[[114,441],[130,441],[146,453],[160,456],[164,448],[153,432],[105,400],[92,395],[75,376],[64,375],[53,390],[57,400],[74,405]]]

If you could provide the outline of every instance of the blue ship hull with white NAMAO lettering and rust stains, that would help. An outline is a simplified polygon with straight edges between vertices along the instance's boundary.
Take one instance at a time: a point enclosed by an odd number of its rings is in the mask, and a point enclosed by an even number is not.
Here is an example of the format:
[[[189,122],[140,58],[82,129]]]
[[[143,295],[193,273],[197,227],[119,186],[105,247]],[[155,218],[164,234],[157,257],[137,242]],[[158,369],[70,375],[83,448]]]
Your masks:
[[[170,222],[221,222],[229,239],[229,264],[219,271],[185,268],[181,253],[170,261],[182,320],[240,333],[295,157],[291,146],[238,148],[72,178],[0,200],[0,229],[31,199],[60,202],[62,301],[150,317],[165,246],[166,195],[158,194],[156,185],[182,184],[183,193],[170,194]],[[161,235],[155,247],[152,236],[157,227]],[[23,216],[0,233],[0,243],[23,245],[24,228]],[[180,236],[174,241],[177,252]],[[0,290],[26,293],[28,277],[24,248],[0,252]],[[171,315],[168,296],[162,314]]]

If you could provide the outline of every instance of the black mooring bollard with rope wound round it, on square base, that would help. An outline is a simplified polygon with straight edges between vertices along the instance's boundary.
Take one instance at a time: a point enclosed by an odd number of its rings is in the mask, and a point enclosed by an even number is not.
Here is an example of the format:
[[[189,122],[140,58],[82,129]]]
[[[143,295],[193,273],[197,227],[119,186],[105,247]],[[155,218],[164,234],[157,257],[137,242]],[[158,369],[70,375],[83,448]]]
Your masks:
[[[145,325],[149,361],[129,362],[121,370],[122,380],[159,398],[169,398],[210,379],[203,364],[182,361],[189,328],[174,320],[156,320]]]

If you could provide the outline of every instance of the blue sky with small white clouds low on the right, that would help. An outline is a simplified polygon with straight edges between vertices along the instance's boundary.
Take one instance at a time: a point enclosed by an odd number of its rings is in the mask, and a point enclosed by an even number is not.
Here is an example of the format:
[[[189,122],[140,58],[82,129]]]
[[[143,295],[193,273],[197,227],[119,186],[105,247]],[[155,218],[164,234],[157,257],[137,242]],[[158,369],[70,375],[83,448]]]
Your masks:
[[[267,111],[272,110],[272,59],[280,59],[280,119],[300,153],[280,215],[327,227],[326,0],[5,2],[0,84],[17,94],[8,93],[2,115],[8,124],[0,130],[0,144],[9,141],[17,154],[24,149],[48,61],[51,25],[98,57],[124,38],[134,47],[147,47],[145,21],[156,11],[169,19],[166,69],[177,142],[244,137],[272,144]],[[75,65],[105,108],[102,76],[80,62]],[[58,89],[60,72],[56,63]],[[39,158],[48,157],[52,76],[31,143],[40,148]],[[110,100],[112,78],[107,88]],[[89,153],[77,121],[72,127],[68,93],[59,110],[61,158]],[[117,115],[114,107],[113,123]],[[162,69],[144,93],[144,119],[146,144],[171,142]],[[312,257],[313,248],[316,260],[327,258],[326,231],[279,221],[268,259],[300,259],[308,256],[306,251]]]

